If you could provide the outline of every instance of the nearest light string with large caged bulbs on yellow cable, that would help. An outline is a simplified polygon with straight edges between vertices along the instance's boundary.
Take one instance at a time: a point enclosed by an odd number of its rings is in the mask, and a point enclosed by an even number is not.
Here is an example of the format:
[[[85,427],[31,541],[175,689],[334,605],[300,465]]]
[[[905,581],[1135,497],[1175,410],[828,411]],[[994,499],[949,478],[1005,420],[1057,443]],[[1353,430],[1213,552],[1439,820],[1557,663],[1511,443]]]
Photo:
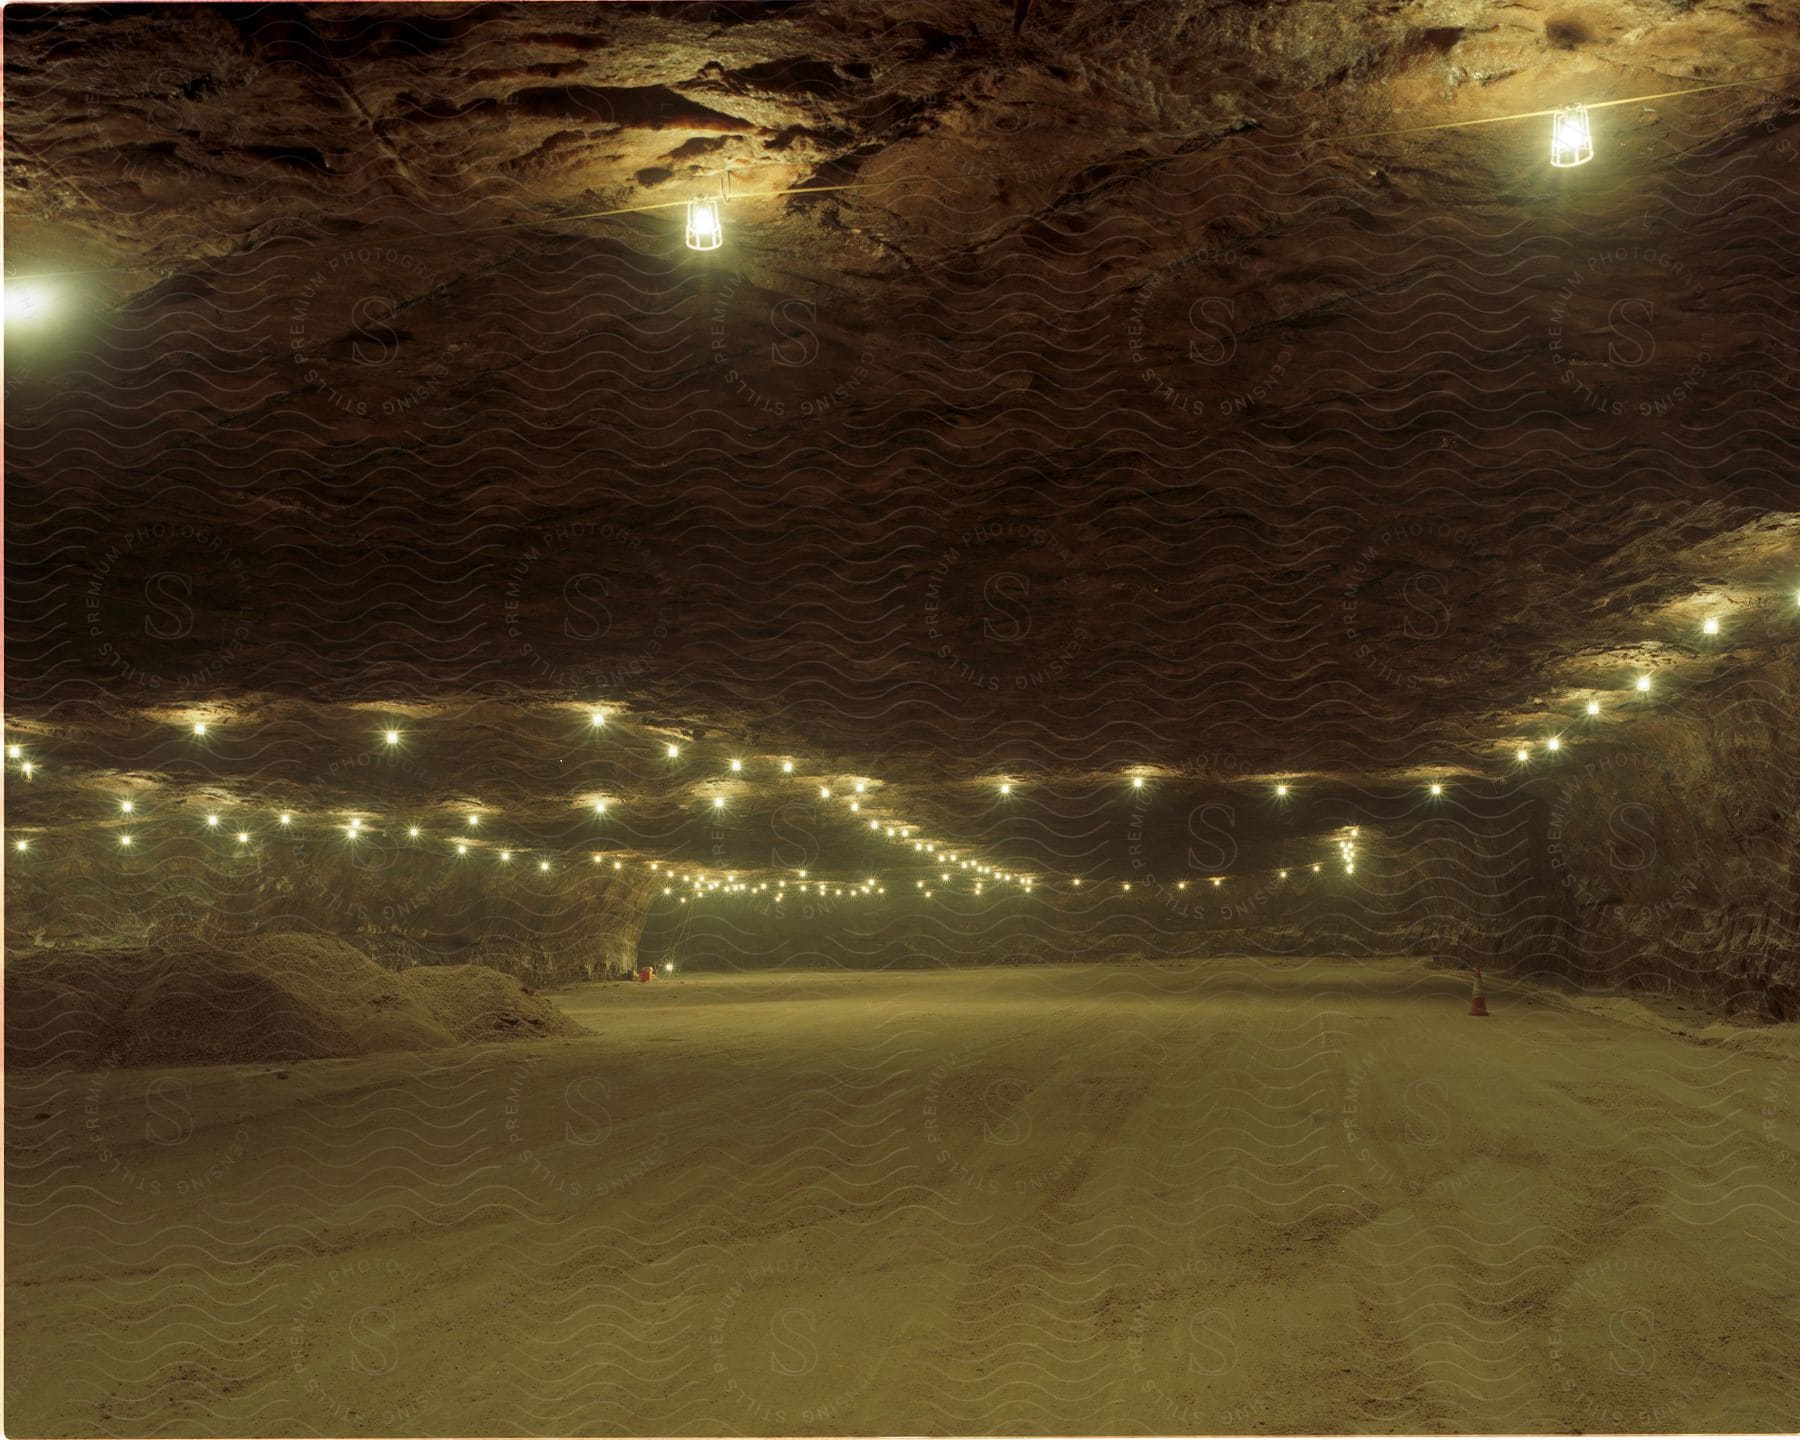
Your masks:
[[[1622,97],[1611,99],[1611,101],[1591,101],[1591,103],[1582,103],[1582,104],[1553,106],[1553,108],[1548,108],[1548,110],[1516,110],[1516,112],[1507,113],[1507,115],[1478,115],[1478,117],[1467,119],[1467,121],[1436,121],[1433,124],[1409,124],[1409,126],[1395,126],[1395,128],[1390,128],[1390,130],[1354,130],[1354,131],[1348,131],[1348,133],[1307,135],[1307,137],[1298,137],[1298,139],[1292,139],[1292,140],[1271,139],[1269,146],[1273,146],[1273,148],[1312,148],[1312,146],[1348,142],[1348,140],[1388,139],[1388,137],[1393,137],[1393,135],[1427,135],[1427,133],[1442,131],[1442,130],[1472,130],[1476,126],[1510,124],[1510,122],[1516,122],[1516,121],[1539,121],[1539,119],[1544,119],[1544,117],[1550,117],[1552,122],[1555,124],[1559,117],[1570,115],[1571,112],[1579,112],[1580,113],[1580,124],[1586,128],[1586,113],[1591,112],[1591,110],[1609,110],[1609,108],[1620,106],[1620,104],[1649,104],[1651,101],[1681,99],[1685,95],[1706,95],[1706,94],[1712,94],[1712,92],[1717,92],[1717,90],[1742,90],[1742,88],[1773,86],[1778,81],[1793,79],[1796,76],[1800,76],[1800,70],[1784,70],[1784,72],[1775,74],[1775,76],[1751,76],[1748,79],[1726,79],[1726,81],[1715,81],[1712,85],[1688,86],[1685,90],[1658,90],[1658,92],[1649,94],[1649,95],[1622,95]],[[1249,133],[1249,131],[1235,131],[1235,133]],[[1224,139],[1231,139],[1231,137],[1228,135]],[[1552,131],[1552,149],[1553,149],[1553,155],[1555,155],[1555,146],[1557,146],[1557,135],[1555,135],[1555,131]],[[1591,155],[1593,155],[1591,133],[1588,135],[1586,146],[1588,146],[1588,155],[1584,158],[1591,158]],[[1559,162],[1557,158],[1552,158],[1552,164],[1561,166],[1564,162]],[[1573,164],[1580,164],[1580,160],[1577,160]],[[742,169],[776,169],[776,167],[785,169],[785,166],[779,166],[779,162],[763,162],[761,166],[749,166],[749,167],[738,167],[738,169],[742,171]],[[574,221],[581,221],[581,220],[614,220],[617,216],[655,214],[659,211],[677,211],[679,209],[679,211],[686,211],[686,214],[688,214],[688,227],[686,227],[686,243],[688,243],[688,247],[693,248],[693,250],[716,250],[716,248],[720,248],[720,245],[724,245],[724,203],[725,203],[725,200],[733,198],[731,196],[731,180],[729,180],[731,173],[733,171],[729,167],[722,173],[722,176],[720,176],[720,194],[715,200],[693,198],[693,196],[684,198],[684,200],[650,200],[650,202],[644,202],[644,203],[639,203],[639,205],[614,205],[614,207],[603,209],[603,211],[578,211],[574,214],[549,214],[549,216],[535,216],[531,220],[502,220],[502,221],[495,221],[493,225],[472,225],[472,227],[464,227],[464,229],[459,229],[455,234],[461,239],[461,238],[475,236],[475,234],[502,234],[502,232],[508,232],[508,230],[538,229],[538,227],[544,227],[544,225],[565,225],[565,223],[574,223]],[[977,176],[977,178],[986,178],[986,180],[1026,180],[1026,178],[1040,176],[1042,175],[1042,167],[1039,167],[1039,169],[1021,169],[1021,171],[976,171],[972,175]],[[842,193],[842,191],[893,189],[893,187],[900,187],[900,185],[931,185],[931,184],[956,185],[956,184],[967,182],[968,178],[970,178],[970,175],[956,175],[956,176],[941,176],[941,175],[902,175],[902,176],[889,176],[886,180],[851,180],[851,182],[842,182],[842,184],[833,184],[833,185],[787,185],[783,189],[772,189],[772,191],[749,191],[749,193],[745,193],[740,198],[742,200],[779,200],[779,198],[785,198],[785,196],[833,194],[833,193]],[[698,225],[697,225],[697,218],[698,218]],[[697,243],[697,239],[700,243]],[[81,268],[81,270],[36,270],[36,272],[25,274],[25,275],[7,275],[5,279],[7,279],[7,283],[20,283],[22,284],[25,281],[36,281],[36,279],[63,279],[63,277],[70,277],[70,275],[137,274],[137,272],[151,272],[151,270],[160,270],[160,268],[164,268],[164,266],[162,265],[97,265],[97,266],[88,266],[88,268]]]

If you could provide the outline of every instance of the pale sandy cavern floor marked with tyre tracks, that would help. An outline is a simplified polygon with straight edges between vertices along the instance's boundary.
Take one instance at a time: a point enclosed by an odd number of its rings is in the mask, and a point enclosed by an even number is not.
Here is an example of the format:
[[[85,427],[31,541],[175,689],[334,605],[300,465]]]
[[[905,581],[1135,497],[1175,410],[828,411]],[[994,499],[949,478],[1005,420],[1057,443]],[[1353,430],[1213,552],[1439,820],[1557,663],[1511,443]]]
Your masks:
[[[1787,1060],[1417,968],[9,1076],[9,1435],[1800,1426]]]

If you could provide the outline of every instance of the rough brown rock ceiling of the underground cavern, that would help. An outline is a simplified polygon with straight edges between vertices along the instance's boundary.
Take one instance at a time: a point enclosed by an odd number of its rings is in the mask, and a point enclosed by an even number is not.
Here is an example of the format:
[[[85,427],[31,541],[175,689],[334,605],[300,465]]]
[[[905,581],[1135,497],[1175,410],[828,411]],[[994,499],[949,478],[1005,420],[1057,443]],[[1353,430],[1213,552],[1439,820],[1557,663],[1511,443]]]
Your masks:
[[[1791,644],[1800,81],[1568,171],[1415,128],[1782,76],[1796,20],[9,7],[9,736],[180,779],[236,718],[324,806],[398,718],[430,805],[670,848],[727,754],[974,839],[1031,778],[1044,850],[1130,767],[1494,778]],[[581,218],[727,169],[716,254]],[[711,769],[571,783],[531,727],[594,702]]]

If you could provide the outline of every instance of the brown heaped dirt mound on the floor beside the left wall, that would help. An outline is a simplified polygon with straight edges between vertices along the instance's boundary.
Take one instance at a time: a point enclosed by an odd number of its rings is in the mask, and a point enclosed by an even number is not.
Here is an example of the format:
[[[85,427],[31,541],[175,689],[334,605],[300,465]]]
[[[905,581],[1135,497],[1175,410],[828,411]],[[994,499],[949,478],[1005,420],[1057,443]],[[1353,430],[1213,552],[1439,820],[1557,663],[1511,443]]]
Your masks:
[[[259,936],[243,947],[11,959],[11,1066],[200,1066],[313,1060],[475,1040],[580,1035],[581,1026],[482,965],[391,972],[340,940]]]

